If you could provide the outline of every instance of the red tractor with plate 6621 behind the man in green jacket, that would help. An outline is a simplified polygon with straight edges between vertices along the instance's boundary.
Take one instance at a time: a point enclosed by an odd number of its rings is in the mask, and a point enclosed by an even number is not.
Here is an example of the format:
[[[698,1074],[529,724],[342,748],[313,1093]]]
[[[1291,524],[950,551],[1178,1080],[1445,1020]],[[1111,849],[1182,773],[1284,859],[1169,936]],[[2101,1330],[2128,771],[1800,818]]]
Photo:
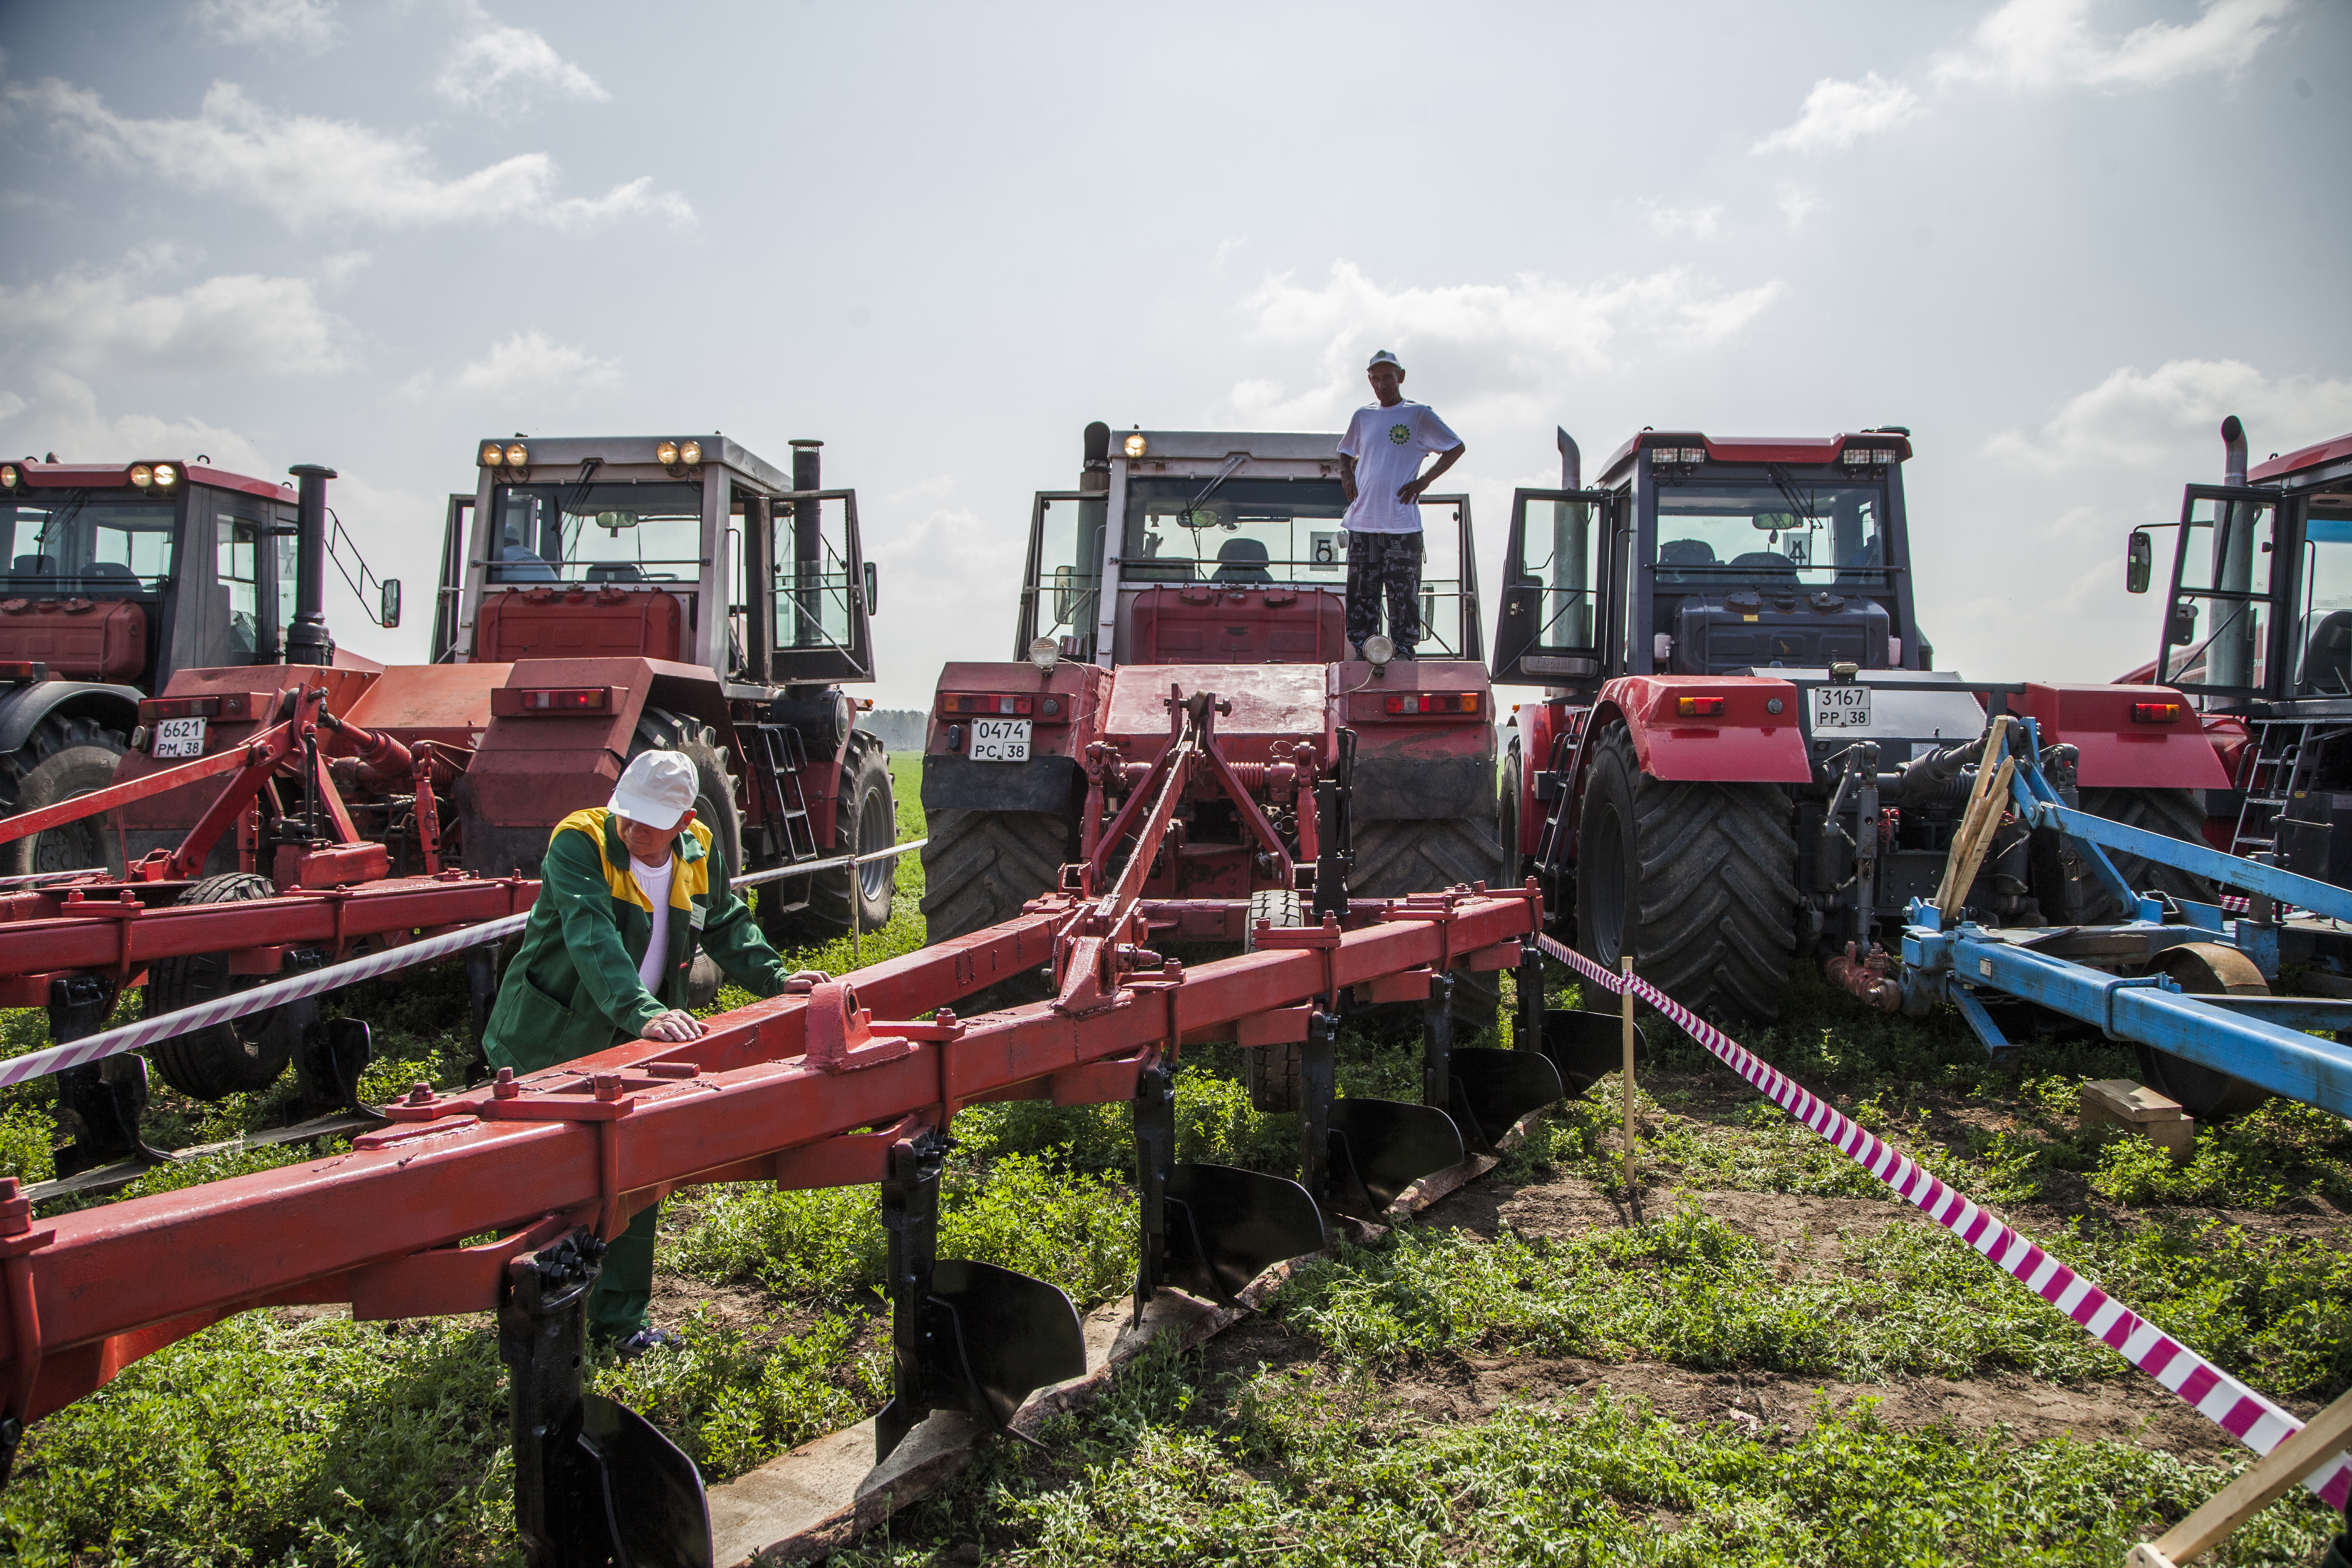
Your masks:
[[[654,748],[694,757],[696,816],[731,875],[896,839],[882,745],[851,726],[842,691],[873,679],[875,569],[856,491],[821,487],[816,442],[795,442],[790,475],[720,435],[487,440],[475,458],[475,494],[449,508],[433,663],[329,668],[320,621],[306,658],[183,668],[139,705],[115,783],[242,750],[296,715],[318,729],[315,757],[299,750],[233,816],[209,788],[120,806],[129,898],[532,877],[555,823],[604,804]],[[296,473],[292,576],[308,614],[332,473]],[[882,926],[891,886],[889,860],[783,877],[757,912],[800,945]],[[174,957],[148,973],[148,1011],[334,957],[263,936]],[[287,1023],[261,1013],[162,1041],[155,1060],[214,1098],[270,1084],[292,1048]]]

